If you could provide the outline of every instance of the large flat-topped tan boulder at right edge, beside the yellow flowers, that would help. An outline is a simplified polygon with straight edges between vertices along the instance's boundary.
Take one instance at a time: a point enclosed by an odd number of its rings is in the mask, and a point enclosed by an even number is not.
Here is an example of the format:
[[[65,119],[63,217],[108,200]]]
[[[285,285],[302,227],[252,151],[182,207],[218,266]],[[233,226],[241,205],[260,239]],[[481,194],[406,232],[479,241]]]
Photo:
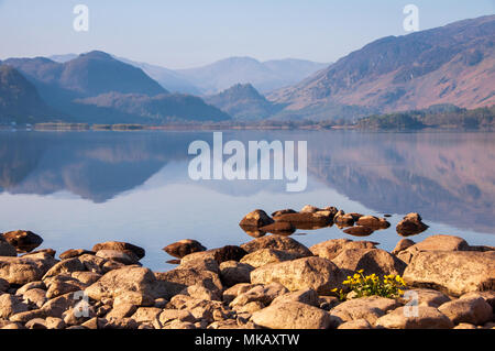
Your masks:
[[[495,252],[422,251],[404,272],[407,285],[432,287],[453,296],[495,289]]]

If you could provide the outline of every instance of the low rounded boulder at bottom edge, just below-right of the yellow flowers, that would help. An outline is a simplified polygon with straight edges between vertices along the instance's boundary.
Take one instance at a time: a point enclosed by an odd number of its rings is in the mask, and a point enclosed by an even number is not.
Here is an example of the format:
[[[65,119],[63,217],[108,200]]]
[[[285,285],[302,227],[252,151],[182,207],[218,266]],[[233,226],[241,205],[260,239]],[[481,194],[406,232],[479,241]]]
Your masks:
[[[417,315],[414,307],[405,306],[394,309],[392,312],[380,317],[376,326],[387,329],[451,329],[452,321],[435,307],[417,306]]]

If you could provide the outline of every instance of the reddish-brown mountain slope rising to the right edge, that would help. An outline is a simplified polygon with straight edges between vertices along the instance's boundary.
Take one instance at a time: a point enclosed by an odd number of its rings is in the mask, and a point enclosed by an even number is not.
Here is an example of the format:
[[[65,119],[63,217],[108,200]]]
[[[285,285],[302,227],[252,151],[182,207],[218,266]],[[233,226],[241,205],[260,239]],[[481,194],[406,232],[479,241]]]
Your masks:
[[[495,15],[405,36],[387,36],[339,59],[293,87],[268,96],[305,114],[326,105],[378,112],[453,103],[495,103]]]

